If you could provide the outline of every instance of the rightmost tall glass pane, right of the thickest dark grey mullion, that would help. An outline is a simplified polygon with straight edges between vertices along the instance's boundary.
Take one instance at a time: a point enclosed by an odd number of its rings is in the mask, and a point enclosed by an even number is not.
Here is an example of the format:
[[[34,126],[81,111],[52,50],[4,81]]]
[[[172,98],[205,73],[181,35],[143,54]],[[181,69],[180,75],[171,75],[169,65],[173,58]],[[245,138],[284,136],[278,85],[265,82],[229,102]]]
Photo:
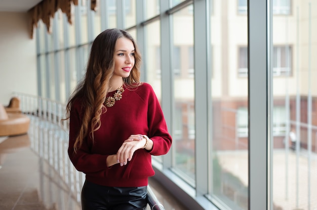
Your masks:
[[[317,209],[317,2],[273,3],[272,205]]]

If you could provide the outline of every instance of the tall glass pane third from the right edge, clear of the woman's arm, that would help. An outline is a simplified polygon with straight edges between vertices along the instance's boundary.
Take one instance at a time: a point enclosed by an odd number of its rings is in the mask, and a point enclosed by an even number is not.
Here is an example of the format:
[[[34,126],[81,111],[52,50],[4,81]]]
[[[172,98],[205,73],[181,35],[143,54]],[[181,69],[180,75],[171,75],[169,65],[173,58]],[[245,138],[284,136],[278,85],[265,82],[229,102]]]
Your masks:
[[[194,78],[189,76],[188,52],[193,47],[193,15],[186,7],[173,15],[174,169],[190,184],[195,179]],[[192,67],[191,67],[192,68]]]

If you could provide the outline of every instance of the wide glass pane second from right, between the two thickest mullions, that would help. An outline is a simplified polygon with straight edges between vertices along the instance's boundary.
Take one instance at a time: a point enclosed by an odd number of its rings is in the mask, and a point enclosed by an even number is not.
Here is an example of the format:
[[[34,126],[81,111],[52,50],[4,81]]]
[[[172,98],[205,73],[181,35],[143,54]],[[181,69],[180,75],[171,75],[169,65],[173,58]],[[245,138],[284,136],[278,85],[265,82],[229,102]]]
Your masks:
[[[210,195],[230,209],[248,209],[247,1],[210,1],[212,142]]]

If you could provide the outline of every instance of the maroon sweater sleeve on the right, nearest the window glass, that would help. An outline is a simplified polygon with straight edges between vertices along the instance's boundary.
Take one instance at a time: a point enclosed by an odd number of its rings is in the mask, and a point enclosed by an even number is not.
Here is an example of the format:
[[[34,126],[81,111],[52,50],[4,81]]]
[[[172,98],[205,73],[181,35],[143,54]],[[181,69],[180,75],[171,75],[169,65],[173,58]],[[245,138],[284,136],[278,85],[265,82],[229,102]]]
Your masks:
[[[157,99],[153,88],[148,86],[148,137],[153,141],[153,149],[150,151],[152,155],[166,154],[171,148],[172,137],[168,132],[165,117],[161,108],[161,104]]]

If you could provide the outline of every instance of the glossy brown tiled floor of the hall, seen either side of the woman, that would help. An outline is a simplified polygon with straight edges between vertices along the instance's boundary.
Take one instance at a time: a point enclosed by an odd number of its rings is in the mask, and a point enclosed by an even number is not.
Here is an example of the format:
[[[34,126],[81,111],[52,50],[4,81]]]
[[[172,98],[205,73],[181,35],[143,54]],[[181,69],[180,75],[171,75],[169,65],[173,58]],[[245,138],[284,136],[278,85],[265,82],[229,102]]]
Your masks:
[[[154,179],[149,185],[166,210],[187,209]],[[0,137],[0,209],[76,210],[81,206],[78,194],[71,193],[50,161],[32,149],[31,135],[25,134]]]

